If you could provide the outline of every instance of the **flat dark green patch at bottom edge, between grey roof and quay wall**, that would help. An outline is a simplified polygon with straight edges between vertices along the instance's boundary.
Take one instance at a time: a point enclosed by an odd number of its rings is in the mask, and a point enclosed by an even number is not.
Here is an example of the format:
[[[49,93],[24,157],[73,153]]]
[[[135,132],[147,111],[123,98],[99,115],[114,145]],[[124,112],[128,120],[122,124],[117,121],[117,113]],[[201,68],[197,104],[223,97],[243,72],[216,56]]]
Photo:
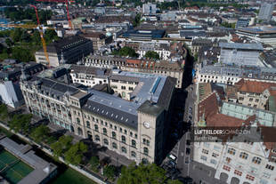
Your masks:
[[[88,179],[84,175],[75,170],[69,168],[65,172],[63,172],[57,179],[53,180],[51,184],[96,184],[93,180]]]

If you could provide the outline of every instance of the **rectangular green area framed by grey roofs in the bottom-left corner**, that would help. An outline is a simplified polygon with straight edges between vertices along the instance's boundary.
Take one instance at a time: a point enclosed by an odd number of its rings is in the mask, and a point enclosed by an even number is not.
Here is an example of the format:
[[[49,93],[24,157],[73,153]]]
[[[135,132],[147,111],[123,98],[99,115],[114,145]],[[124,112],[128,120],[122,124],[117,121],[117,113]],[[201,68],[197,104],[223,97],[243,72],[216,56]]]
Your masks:
[[[2,150],[0,152],[0,174],[5,180],[11,183],[18,183],[34,169],[22,162],[10,152]]]

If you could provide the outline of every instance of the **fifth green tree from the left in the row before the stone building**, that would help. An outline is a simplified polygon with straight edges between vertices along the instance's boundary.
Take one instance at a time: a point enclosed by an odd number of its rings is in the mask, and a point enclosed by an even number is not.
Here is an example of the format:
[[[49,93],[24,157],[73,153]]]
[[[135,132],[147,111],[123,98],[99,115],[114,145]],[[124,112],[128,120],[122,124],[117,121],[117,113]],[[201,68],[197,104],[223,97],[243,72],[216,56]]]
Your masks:
[[[77,142],[67,152],[65,152],[65,161],[69,164],[78,165],[83,160],[84,153],[88,148],[83,142]]]

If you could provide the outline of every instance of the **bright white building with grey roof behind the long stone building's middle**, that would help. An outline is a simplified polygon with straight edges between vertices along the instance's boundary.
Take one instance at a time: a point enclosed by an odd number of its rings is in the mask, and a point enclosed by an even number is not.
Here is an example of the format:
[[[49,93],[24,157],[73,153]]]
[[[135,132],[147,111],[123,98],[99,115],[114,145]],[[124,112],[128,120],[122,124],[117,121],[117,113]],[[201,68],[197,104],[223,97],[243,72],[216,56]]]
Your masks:
[[[93,68],[83,65],[72,65],[70,76],[73,83],[93,87],[96,84],[109,84],[110,68]]]

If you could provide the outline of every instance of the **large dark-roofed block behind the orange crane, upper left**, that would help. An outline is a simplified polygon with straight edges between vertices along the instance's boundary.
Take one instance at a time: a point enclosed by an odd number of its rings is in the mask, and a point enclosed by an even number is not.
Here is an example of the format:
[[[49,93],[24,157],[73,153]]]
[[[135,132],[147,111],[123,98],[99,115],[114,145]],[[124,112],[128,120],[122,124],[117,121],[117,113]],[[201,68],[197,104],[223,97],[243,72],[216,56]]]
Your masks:
[[[47,45],[49,66],[77,63],[93,52],[93,42],[82,36],[69,36]],[[48,65],[44,50],[36,52],[37,63]]]

